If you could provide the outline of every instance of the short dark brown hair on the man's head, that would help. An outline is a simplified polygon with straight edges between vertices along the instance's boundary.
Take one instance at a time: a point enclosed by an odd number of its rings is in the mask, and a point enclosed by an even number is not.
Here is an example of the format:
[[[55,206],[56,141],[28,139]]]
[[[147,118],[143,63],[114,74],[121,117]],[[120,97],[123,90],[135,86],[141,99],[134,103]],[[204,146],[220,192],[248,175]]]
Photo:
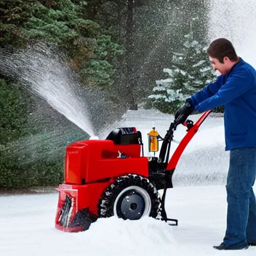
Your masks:
[[[225,38],[218,38],[212,41],[207,49],[207,53],[212,58],[217,58],[223,63],[223,58],[228,57],[231,61],[237,60],[237,55],[232,43]]]

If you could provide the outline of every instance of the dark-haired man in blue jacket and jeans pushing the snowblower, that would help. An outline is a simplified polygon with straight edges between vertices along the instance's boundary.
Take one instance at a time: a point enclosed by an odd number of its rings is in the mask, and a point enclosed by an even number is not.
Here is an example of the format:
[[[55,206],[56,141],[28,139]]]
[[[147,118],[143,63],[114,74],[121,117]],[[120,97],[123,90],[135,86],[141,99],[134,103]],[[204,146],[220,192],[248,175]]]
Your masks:
[[[256,174],[256,71],[236,55],[224,38],[210,43],[215,82],[186,99],[175,113],[176,124],[195,111],[224,105],[225,150],[230,150],[226,181],[227,219],[223,242],[216,249],[246,249],[256,245],[256,200],[252,186]]]

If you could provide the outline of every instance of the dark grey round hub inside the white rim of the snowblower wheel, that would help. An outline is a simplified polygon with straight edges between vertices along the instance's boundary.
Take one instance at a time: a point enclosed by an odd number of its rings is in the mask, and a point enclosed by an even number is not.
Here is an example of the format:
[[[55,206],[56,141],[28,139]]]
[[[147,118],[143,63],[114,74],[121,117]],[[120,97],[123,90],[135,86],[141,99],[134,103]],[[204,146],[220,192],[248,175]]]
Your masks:
[[[135,190],[124,192],[116,204],[117,215],[123,219],[139,219],[144,209],[144,198]]]

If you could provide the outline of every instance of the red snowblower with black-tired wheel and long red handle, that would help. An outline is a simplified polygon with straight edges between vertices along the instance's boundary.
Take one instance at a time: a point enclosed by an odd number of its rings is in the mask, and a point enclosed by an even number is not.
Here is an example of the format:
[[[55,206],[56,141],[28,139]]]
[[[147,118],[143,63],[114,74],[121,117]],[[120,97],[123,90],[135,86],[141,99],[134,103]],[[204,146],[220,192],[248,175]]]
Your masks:
[[[185,146],[208,116],[186,120],[186,134],[169,159],[175,121],[162,138],[158,157],[144,156],[141,132],[135,127],[112,130],[106,139],[74,142],[66,147],[64,181],[59,192],[55,227],[67,232],[86,230],[97,218],[115,215],[123,219],[151,216],[168,224],[164,202],[172,174]],[[148,133],[149,151],[158,150],[159,135]],[[158,190],[163,189],[160,197]]]

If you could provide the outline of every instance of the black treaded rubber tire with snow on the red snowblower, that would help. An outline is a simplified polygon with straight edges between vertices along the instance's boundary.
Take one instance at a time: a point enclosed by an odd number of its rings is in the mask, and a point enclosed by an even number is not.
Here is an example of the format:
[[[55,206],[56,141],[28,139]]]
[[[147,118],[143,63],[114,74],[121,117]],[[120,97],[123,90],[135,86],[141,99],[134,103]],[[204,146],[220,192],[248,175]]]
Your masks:
[[[128,186],[139,186],[149,194],[151,199],[151,211],[149,216],[156,218],[160,212],[160,195],[155,186],[147,178],[137,174],[120,176],[105,189],[98,201],[98,216],[113,216],[114,201],[118,194],[120,194],[122,190]]]

